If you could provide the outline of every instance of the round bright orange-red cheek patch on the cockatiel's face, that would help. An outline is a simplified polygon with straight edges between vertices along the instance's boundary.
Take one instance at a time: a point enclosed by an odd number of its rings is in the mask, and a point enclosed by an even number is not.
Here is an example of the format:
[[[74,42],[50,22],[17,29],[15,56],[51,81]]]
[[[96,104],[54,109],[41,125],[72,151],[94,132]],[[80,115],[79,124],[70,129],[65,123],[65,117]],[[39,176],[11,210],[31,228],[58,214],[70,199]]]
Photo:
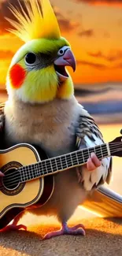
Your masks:
[[[19,64],[13,65],[9,70],[9,78],[13,88],[19,88],[24,83],[25,76],[26,72]]]

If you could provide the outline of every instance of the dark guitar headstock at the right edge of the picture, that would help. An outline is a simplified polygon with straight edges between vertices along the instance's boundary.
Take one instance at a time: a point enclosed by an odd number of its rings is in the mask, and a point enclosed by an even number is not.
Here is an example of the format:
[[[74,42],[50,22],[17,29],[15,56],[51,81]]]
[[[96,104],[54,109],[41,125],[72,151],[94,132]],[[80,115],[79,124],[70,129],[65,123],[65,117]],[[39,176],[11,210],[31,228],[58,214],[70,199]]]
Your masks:
[[[122,157],[122,136],[116,137],[109,143],[109,149],[112,156]]]

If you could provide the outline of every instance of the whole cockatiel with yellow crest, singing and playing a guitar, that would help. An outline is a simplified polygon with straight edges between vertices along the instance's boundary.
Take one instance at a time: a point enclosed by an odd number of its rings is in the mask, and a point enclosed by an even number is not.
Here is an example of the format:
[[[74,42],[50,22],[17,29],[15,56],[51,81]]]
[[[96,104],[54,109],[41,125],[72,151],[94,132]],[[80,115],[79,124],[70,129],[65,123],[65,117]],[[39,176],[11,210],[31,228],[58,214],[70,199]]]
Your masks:
[[[30,143],[52,158],[73,150],[103,143],[97,124],[74,96],[72,78],[66,66],[75,71],[76,60],[68,41],[61,37],[49,0],[24,0],[20,10],[10,6],[15,20],[9,20],[25,44],[14,55],[6,79],[8,101],[4,108],[3,147]],[[3,136],[3,135],[2,135]],[[1,173],[2,176],[2,173]],[[68,228],[67,221],[79,203],[111,176],[111,158],[99,161],[91,154],[87,165],[57,173],[54,192],[42,207],[30,209],[35,215],[53,215],[61,222],[57,232],[84,235],[83,225]],[[22,215],[5,228],[17,225]]]

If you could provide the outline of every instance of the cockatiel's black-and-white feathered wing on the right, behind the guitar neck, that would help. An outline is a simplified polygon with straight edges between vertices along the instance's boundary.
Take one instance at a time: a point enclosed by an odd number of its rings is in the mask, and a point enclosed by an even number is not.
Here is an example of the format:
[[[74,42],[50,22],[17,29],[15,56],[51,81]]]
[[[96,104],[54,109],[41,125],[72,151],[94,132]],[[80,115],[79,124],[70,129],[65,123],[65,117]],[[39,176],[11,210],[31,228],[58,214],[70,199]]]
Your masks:
[[[76,128],[76,147],[82,149],[84,147],[94,147],[104,143],[102,132],[94,119],[87,113],[82,106],[79,115],[78,126]],[[79,181],[88,191],[97,188],[100,185],[111,180],[112,176],[112,158],[102,159],[102,165],[93,172],[88,172],[86,165],[82,165],[77,169]]]

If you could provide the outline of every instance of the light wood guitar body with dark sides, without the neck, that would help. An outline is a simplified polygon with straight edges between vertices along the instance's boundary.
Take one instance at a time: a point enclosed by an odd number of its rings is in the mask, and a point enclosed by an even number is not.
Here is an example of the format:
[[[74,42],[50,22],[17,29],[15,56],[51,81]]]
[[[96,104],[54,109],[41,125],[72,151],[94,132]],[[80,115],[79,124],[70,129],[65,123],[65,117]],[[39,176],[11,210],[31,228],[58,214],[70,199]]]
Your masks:
[[[11,183],[0,184],[0,229],[5,228],[20,212],[30,207],[43,206],[54,191],[54,176],[45,176],[25,183],[15,183],[17,169],[31,165],[40,159],[35,147],[19,144],[7,150],[0,150],[0,170],[6,175],[13,175]],[[26,175],[26,172],[24,173]]]

